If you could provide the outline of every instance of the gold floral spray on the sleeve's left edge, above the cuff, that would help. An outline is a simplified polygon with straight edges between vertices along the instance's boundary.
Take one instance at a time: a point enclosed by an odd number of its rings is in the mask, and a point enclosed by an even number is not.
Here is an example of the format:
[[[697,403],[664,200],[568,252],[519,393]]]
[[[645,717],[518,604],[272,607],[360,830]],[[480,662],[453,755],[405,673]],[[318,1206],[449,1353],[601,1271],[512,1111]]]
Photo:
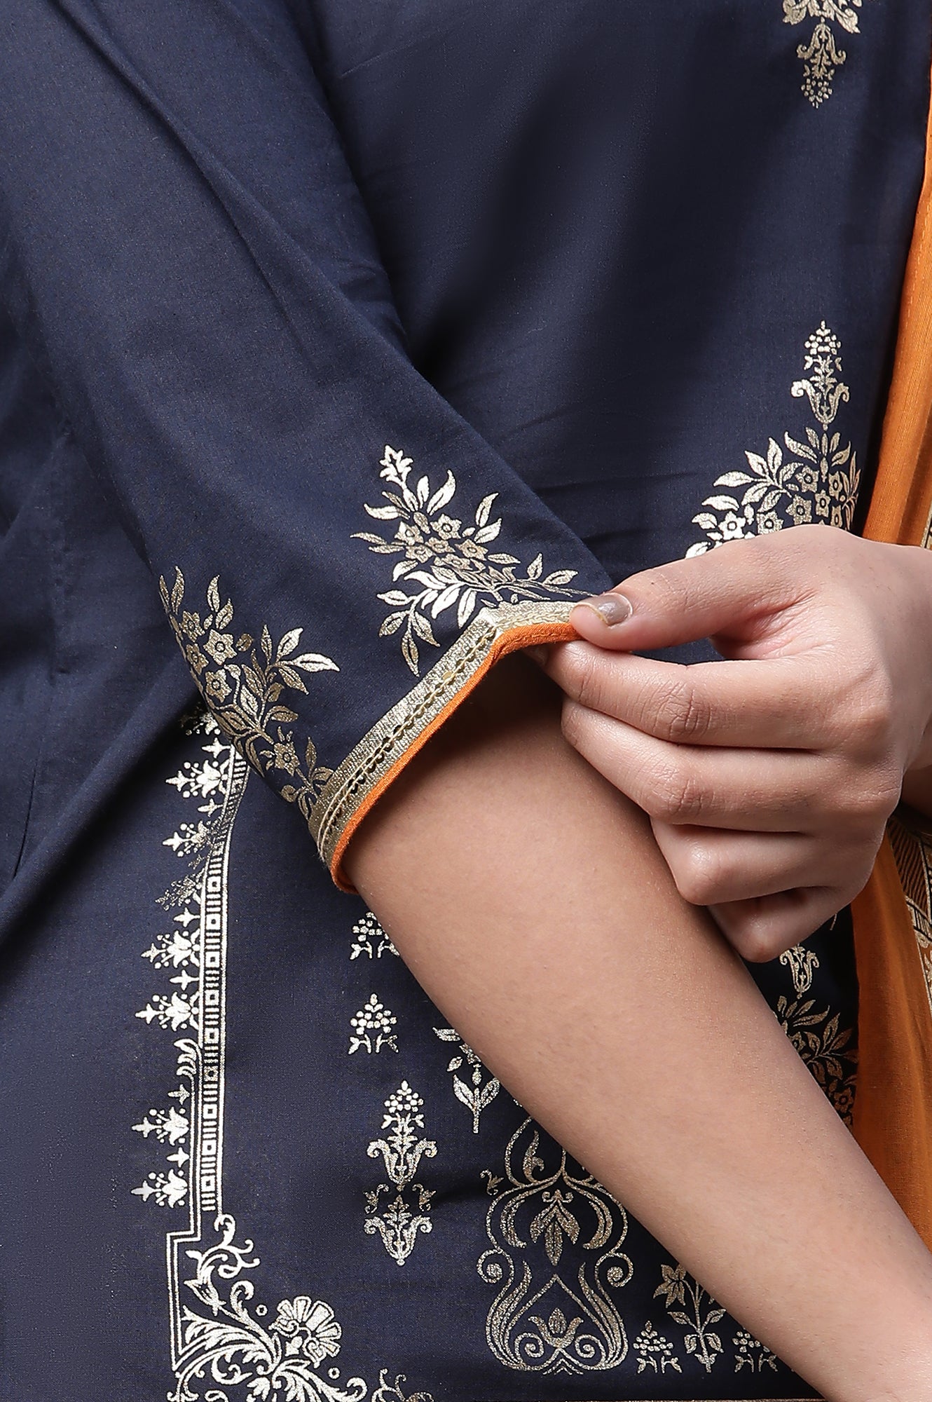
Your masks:
[[[171,586],[158,580],[161,601],[191,674],[217,721],[242,756],[269,778],[289,803],[310,820],[314,802],[331,770],[317,763],[313,740],[299,754],[290,726],[297,711],[282,697],[290,688],[307,694],[301,673],[339,672],[320,652],[297,652],[303,628],[292,628],[273,644],[262,625],[259,642],[244,632],[234,637],[233,604],[220,601],[220,576],[207,585],[207,613],[185,608],[185,576],[175,568]]]

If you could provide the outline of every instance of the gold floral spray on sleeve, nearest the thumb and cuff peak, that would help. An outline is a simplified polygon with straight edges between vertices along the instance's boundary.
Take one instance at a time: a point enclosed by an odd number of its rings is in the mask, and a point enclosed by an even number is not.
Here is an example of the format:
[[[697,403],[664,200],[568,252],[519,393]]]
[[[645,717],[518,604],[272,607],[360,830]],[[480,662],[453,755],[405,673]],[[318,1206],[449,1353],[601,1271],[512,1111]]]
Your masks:
[[[576,578],[575,569],[555,569],[544,573],[544,561],[537,555],[521,575],[520,561],[506,551],[489,551],[502,530],[500,517],[492,520],[492,506],[498,492],[484,496],[468,526],[444,510],[457,492],[457,479],[447,471],[447,479],[436,491],[426,477],[411,479],[413,460],[385,444],[380,477],[388,484],[383,491],[384,506],[366,506],[380,522],[394,522],[394,536],[357,531],[353,540],[363,540],[377,555],[399,555],[391,578],[404,587],[390,589],[378,599],[391,607],[378,635],[401,634],[401,652],[408,667],[418,676],[420,652],[418,642],[432,648],[440,644],[433,635],[432,620],[455,608],[457,627],[465,628],[484,604],[516,604],[528,599],[552,599],[580,594],[566,586]],[[455,508],[453,508],[455,510]],[[411,586],[415,586],[412,592]]]

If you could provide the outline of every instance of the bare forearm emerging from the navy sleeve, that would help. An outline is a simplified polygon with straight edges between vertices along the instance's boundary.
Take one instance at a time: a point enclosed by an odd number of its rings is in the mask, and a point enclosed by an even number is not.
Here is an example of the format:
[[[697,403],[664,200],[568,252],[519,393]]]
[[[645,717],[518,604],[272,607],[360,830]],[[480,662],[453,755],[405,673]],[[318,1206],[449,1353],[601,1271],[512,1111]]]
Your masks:
[[[932,1256],[526,659],[346,868],[444,1016],[743,1325],[834,1402],[932,1399]]]

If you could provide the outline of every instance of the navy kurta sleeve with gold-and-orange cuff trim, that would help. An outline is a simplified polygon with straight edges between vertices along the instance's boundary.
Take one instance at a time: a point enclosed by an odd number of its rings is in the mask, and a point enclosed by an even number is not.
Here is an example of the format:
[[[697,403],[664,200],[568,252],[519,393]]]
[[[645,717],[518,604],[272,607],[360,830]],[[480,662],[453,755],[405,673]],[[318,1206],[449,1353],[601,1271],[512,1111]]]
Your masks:
[[[207,707],[355,827],[601,568],[418,373],[286,0],[18,0],[0,279]]]

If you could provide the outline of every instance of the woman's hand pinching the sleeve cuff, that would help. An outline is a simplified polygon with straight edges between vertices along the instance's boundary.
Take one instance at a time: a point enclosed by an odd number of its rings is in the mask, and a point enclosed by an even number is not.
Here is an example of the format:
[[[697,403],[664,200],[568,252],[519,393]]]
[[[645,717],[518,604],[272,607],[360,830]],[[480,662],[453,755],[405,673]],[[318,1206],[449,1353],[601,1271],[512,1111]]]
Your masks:
[[[901,789],[932,812],[932,551],[795,527],[633,575],[573,625],[545,663],[566,737],[746,959],[858,894]],[[631,655],[705,637],[727,660]]]

